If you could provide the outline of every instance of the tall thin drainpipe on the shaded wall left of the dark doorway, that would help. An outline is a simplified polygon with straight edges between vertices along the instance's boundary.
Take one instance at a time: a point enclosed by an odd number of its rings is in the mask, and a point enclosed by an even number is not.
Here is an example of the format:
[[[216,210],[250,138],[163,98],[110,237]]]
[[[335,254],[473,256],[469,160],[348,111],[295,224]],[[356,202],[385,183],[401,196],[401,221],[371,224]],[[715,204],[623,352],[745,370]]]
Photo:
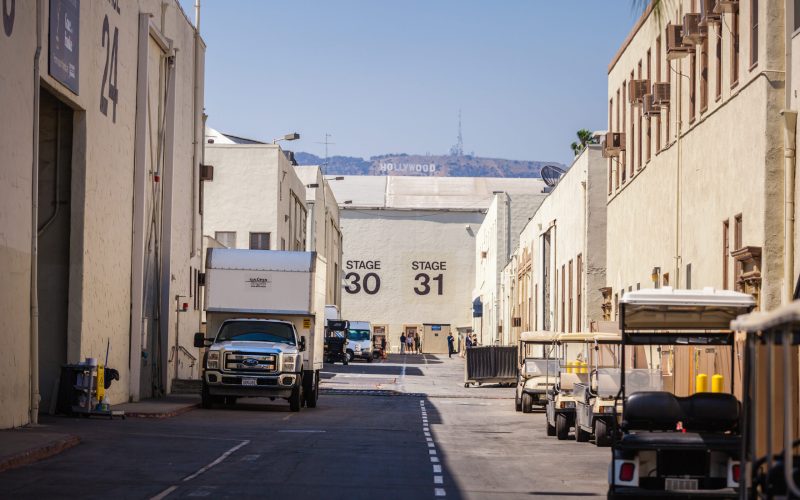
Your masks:
[[[33,55],[33,161],[31,165],[31,414],[39,422],[39,56],[42,54],[42,0],[36,2],[36,52]]]

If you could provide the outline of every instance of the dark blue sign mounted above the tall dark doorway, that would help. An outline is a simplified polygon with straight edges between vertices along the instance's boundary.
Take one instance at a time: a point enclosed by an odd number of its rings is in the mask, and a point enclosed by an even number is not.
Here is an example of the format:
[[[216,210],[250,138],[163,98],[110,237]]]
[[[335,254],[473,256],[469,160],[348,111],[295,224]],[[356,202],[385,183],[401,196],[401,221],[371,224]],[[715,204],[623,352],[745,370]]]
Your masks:
[[[78,94],[80,0],[50,0],[50,76]]]

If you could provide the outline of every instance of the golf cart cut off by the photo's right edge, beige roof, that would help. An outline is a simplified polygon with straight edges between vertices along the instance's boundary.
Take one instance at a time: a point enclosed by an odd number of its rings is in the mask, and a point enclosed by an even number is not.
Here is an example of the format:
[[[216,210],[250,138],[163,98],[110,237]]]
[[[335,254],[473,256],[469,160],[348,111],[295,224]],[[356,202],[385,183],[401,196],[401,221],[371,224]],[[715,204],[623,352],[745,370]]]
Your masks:
[[[800,440],[795,413],[800,301],[769,313],[742,316],[731,327],[747,334],[743,448],[741,467],[737,468],[743,472],[741,498],[800,498]],[[762,385],[759,382],[764,378]],[[774,417],[779,418],[776,421]],[[781,420],[782,428],[778,424]]]

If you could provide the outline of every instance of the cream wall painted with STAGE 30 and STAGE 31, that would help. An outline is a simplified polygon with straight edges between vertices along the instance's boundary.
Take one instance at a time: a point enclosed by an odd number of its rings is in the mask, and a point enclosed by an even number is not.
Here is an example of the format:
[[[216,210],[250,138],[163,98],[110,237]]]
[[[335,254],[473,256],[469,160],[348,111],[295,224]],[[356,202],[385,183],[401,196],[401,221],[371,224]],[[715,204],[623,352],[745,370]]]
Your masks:
[[[358,274],[359,283],[368,273],[380,279],[380,289],[366,293],[361,286],[357,293],[342,293],[342,317],[348,320],[371,321],[387,325],[389,343],[397,350],[404,325],[447,323],[453,328],[472,323],[470,293],[474,287],[475,234],[483,213],[480,211],[430,210],[341,210],[344,234],[344,274],[349,289]],[[380,262],[380,269],[355,269],[356,261]],[[445,262],[446,270],[414,270],[412,262]],[[372,265],[372,264],[370,264]],[[428,274],[430,291],[422,279]],[[438,282],[442,275],[442,295]],[[349,275],[349,277],[348,277]],[[369,278],[370,291],[375,279]],[[423,346],[424,349],[424,346]]]

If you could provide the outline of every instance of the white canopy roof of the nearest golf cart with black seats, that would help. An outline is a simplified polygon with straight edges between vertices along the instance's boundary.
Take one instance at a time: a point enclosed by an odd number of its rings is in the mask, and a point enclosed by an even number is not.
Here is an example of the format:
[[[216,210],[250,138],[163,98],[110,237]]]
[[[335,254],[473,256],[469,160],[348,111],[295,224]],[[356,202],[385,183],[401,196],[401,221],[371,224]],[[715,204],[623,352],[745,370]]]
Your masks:
[[[730,290],[674,290],[671,287],[628,292],[619,300],[620,328],[630,330],[723,330],[755,307],[751,295]]]

